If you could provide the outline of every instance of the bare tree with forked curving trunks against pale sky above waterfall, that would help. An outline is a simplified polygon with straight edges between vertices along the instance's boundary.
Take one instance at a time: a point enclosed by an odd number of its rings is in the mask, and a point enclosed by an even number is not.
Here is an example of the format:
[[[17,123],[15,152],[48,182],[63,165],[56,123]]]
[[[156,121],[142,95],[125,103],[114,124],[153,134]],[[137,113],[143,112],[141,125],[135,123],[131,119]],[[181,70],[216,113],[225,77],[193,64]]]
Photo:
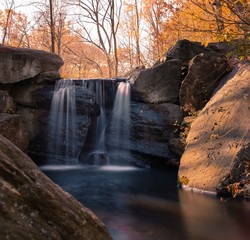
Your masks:
[[[117,30],[120,22],[121,0],[68,0],[73,5],[75,32],[84,42],[98,47],[106,57],[108,76],[117,74]]]

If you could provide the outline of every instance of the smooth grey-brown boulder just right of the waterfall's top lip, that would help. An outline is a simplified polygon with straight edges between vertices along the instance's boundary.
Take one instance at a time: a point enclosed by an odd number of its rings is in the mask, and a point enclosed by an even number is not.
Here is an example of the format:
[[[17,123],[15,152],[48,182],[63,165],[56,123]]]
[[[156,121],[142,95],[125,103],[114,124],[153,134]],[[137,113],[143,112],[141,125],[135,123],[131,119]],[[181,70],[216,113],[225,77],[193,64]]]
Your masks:
[[[181,83],[181,61],[172,60],[140,71],[132,99],[147,103],[177,103]]]

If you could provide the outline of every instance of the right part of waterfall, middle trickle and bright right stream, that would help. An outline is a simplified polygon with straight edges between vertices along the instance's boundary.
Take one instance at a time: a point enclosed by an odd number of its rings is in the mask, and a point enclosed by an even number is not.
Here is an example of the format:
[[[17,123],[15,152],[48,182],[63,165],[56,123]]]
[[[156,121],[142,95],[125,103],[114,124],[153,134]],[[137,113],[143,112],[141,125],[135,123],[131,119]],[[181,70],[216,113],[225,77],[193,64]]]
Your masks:
[[[100,115],[92,120],[81,159],[92,165],[126,164],[120,160],[129,157],[130,84],[92,80],[84,86],[95,91]]]

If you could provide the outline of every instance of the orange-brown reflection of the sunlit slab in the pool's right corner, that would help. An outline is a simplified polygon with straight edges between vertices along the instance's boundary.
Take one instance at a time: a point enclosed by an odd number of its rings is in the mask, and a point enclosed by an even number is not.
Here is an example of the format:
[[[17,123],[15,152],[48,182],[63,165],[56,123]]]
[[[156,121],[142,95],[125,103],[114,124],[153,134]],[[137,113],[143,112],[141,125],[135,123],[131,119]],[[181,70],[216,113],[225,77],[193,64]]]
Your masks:
[[[214,197],[186,191],[179,191],[179,200],[187,239],[249,239],[249,204],[222,203]]]

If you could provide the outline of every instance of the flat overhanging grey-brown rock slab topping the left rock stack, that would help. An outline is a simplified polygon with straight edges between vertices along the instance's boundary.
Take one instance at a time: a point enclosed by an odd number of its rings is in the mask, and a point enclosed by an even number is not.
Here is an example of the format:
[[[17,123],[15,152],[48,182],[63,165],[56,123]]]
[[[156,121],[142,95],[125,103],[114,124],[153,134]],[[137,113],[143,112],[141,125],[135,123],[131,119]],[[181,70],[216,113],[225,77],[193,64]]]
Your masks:
[[[45,72],[58,72],[63,61],[45,51],[0,44],[0,82],[16,83]]]

